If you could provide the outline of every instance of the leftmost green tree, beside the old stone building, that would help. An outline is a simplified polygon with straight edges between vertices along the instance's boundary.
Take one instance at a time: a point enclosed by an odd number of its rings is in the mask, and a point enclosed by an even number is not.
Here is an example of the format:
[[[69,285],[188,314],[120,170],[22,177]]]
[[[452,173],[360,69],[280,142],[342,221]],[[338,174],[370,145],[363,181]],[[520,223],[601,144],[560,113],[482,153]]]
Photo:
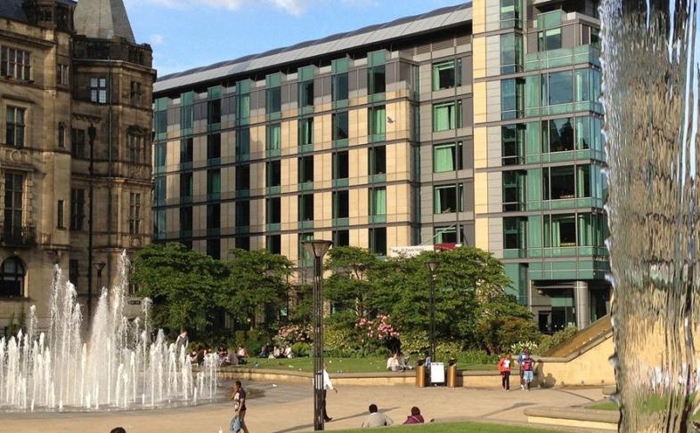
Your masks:
[[[139,295],[153,301],[154,324],[179,331],[210,323],[226,272],[219,261],[181,244],[153,244],[136,253],[132,278]]]

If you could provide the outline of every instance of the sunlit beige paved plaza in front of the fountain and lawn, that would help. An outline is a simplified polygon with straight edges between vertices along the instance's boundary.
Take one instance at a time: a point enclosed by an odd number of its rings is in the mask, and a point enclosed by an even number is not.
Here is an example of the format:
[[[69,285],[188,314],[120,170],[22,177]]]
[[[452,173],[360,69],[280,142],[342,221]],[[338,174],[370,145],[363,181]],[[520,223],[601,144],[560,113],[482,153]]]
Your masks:
[[[268,382],[248,382],[248,428],[252,433],[293,433],[313,430],[311,387]],[[525,423],[523,410],[537,405],[584,405],[599,400],[602,390],[533,389],[418,389],[410,386],[346,386],[330,393],[328,412],[333,421],[327,430],[359,427],[367,406],[376,403],[395,423],[402,423],[412,405],[418,405],[426,420],[455,417]],[[3,413],[3,431],[109,433],[121,426],[127,433],[227,432],[232,404],[217,403],[159,411],[113,413]]]

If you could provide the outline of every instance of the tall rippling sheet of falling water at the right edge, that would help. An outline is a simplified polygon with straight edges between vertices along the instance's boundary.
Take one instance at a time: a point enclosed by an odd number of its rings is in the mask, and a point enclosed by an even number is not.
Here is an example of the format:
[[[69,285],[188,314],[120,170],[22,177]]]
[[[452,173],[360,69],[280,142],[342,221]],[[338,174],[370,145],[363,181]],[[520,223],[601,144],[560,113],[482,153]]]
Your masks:
[[[603,0],[620,431],[687,432],[700,341],[696,0]]]

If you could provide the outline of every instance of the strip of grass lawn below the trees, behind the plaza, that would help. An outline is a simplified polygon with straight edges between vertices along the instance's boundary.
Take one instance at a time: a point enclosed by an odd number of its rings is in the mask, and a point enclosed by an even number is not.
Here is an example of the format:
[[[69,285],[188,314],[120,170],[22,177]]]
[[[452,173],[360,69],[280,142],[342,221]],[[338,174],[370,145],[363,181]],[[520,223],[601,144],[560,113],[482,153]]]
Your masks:
[[[380,357],[326,357],[329,373],[384,373],[387,371],[387,359]],[[291,359],[250,359],[247,365],[260,364],[259,368],[268,370],[289,370],[312,372],[313,358],[294,357]],[[496,370],[496,365],[470,365],[457,363],[460,370]]]

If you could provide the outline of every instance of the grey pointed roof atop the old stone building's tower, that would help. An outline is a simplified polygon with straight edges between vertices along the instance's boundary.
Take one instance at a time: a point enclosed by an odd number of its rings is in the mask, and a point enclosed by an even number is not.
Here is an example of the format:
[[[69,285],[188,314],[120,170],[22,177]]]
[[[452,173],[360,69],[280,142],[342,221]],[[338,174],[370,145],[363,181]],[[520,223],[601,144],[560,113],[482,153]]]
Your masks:
[[[96,39],[122,37],[136,43],[122,0],[80,0],[73,13],[73,25],[78,35]]]

